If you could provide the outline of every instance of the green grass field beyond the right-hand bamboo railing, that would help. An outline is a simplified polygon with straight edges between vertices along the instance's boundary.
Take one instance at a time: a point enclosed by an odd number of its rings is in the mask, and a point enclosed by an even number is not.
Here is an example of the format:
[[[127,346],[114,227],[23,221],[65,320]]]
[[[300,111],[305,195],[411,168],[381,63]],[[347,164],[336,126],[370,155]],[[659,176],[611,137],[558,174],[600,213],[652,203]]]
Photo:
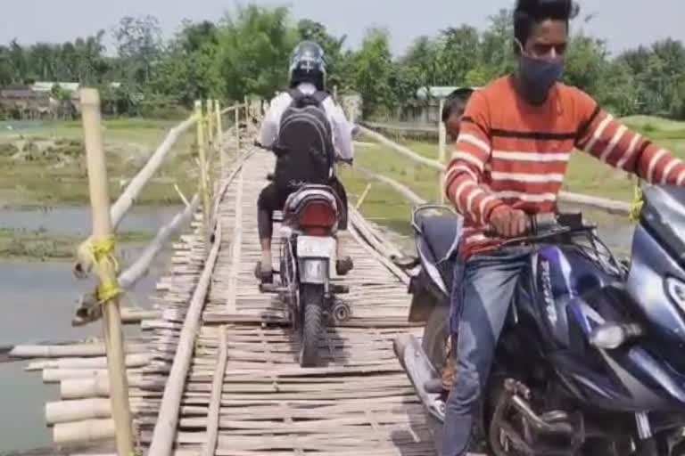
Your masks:
[[[634,128],[662,147],[685,159],[685,122],[675,122],[663,118],[636,116],[624,118],[627,126]],[[359,141],[373,142],[367,137]],[[429,158],[438,159],[436,143],[401,141],[412,151]],[[392,149],[375,144],[373,147],[358,146],[356,162],[378,174],[387,175],[404,183],[423,199],[436,200],[438,197],[438,173],[429,167],[417,165]],[[351,200],[367,186],[368,180],[359,171],[345,168],[342,180],[351,194]],[[633,179],[590,155],[576,151],[571,159],[565,178],[564,190],[585,193],[610,199],[630,201],[634,190]],[[409,232],[411,205],[397,192],[384,183],[373,182],[372,191],[362,205],[365,216],[376,219],[399,232]]]

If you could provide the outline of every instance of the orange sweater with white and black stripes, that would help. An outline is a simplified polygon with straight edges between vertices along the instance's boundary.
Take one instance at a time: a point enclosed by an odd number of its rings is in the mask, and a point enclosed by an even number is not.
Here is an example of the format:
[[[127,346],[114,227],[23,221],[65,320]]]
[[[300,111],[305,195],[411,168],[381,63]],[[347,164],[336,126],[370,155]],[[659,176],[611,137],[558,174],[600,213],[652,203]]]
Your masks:
[[[512,77],[475,92],[462,119],[445,178],[447,197],[465,216],[464,257],[497,248],[483,229],[501,205],[554,212],[574,149],[649,183],[681,184],[685,164],[621,125],[581,90],[555,85],[547,101],[524,101]]]

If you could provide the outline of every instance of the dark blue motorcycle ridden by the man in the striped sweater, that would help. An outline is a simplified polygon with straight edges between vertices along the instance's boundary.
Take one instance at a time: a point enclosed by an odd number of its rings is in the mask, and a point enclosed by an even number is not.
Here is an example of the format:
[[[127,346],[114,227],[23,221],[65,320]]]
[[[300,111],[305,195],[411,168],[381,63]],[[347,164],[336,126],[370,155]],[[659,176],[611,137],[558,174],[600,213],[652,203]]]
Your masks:
[[[685,454],[685,189],[648,186],[643,197],[629,263],[582,214],[532,217],[526,236],[508,240],[532,253],[475,428],[490,454]],[[444,363],[450,261],[440,256],[459,221],[432,218],[415,212],[418,256],[407,265],[409,319],[426,322],[424,338],[403,336],[394,348],[442,423],[444,403],[426,384]]]

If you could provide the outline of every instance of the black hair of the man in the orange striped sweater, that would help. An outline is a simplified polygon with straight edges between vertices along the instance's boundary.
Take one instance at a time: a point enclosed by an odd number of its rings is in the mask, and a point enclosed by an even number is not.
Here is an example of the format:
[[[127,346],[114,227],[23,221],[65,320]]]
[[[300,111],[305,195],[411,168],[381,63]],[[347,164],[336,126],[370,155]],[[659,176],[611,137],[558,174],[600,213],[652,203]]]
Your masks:
[[[516,0],[514,9],[514,37],[525,45],[532,28],[542,20],[564,20],[566,25],[580,12],[574,0]],[[515,44],[516,53],[519,51]]]

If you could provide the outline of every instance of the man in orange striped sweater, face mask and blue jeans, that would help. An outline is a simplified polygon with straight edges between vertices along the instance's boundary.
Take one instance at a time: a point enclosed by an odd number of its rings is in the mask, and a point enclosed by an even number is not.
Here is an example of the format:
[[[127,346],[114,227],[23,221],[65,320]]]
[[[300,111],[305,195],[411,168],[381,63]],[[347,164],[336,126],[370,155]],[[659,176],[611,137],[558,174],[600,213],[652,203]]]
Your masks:
[[[447,401],[442,456],[466,454],[518,275],[530,255],[498,248],[524,234],[529,215],[554,212],[574,149],[648,183],[682,184],[685,164],[621,125],[588,94],[558,83],[571,0],[518,0],[518,70],[471,95],[446,175],[465,217],[450,326],[457,368]],[[498,233],[485,236],[486,228]]]

